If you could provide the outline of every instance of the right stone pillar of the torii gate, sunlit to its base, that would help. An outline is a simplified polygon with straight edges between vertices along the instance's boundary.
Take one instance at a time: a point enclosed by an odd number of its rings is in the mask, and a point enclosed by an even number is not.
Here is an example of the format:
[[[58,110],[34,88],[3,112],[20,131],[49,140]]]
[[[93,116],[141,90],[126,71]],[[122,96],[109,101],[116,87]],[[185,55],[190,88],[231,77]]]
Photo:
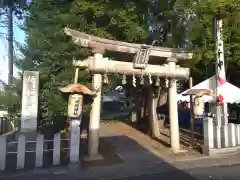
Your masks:
[[[171,72],[175,71],[176,59],[168,59],[168,66]],[[180,150],[178,107],[177,107],[177,81],[171,80],[169,87],[169,119],[171,133],[171,148],[177,153]]]

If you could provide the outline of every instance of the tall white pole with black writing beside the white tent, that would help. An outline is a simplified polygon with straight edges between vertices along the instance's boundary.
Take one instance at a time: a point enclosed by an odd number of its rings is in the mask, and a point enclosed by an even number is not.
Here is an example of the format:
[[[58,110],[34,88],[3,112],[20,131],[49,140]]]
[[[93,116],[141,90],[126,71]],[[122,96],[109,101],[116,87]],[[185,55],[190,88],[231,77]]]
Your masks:
[[[223,21],[218,16],[215,16],[215,42],[216,42],[216,95],[223,95],[221,86],[226,83],[226,72],[224,63],[224,48],[223,48]],[[224,98],[224,97],[223,97]],[[221,104],[216,104],[216,123],[221,126],[221,136],[223,147],[228,147],[228,115],[227,103],[224,100]]]

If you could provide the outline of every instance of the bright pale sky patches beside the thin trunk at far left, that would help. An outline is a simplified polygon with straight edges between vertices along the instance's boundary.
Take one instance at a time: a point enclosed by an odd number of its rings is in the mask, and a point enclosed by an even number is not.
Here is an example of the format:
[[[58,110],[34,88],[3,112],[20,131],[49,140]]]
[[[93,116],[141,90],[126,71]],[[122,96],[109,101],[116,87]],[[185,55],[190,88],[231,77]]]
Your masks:
[[[14,18],[14,40],[18,43],[24,43],[25,40],[25,34],[24,32],[19,28],[19,25],[22,22]],[[0,79],[4,82],[7,82],[7,75],[8,75],[8,46],[7,46],[7,27],[0,27]],[[17,47],[14,47],[14,51],[16,56],[19,56],[19,51]],[[17,69],[14,68],[14,75],[17,75]]]

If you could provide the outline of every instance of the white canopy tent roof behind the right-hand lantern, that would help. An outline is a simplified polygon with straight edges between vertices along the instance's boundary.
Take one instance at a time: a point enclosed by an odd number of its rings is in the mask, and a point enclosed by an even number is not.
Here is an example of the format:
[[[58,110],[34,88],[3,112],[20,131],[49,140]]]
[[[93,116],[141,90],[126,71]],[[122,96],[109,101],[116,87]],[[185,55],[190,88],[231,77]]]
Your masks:
[[[212,76],[209,79],[193,86],[191,89],[208,89],[211,91],[215,91],[216,89],[216,77]],[[180,93],[177,95],[177,101],[190,101],[190,96],[184,96],[188,90]],[[221,85],[219,88],[219,94],[224,97],[224,101],[227,103],[240,103],[240,88],[226,82],[225,84]],[[202,100],[204,102],[211,102],[215,101],[211,96],[203,96]]]

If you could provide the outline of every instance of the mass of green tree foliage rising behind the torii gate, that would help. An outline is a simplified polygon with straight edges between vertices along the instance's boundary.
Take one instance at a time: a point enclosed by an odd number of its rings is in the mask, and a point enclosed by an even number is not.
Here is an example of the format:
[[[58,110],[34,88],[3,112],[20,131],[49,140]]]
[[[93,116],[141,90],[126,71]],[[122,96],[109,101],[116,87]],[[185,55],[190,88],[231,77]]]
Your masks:
[[[72,43],[64,34],[64,27],[109,39],[146,44],[155,41],[155,45],[188,48],[195,51],[195,56],[184,63],[200,79],[204,77],[205,65],[215,61],[212,19],[220,14],[224,20],[225,59],[228,71],[232,71],[240,60],[239,3],[238,0],[33,0],[26,17],[27,46],[22,50],[25,55],[22,68],[40,71],[40,110],[47,117],[66,112],[66,100],[58,88],[73,81],[73,57],[84,59],[91,55],[89,49]],[[81,71],[79,82],[90,85],[90,74]]]

